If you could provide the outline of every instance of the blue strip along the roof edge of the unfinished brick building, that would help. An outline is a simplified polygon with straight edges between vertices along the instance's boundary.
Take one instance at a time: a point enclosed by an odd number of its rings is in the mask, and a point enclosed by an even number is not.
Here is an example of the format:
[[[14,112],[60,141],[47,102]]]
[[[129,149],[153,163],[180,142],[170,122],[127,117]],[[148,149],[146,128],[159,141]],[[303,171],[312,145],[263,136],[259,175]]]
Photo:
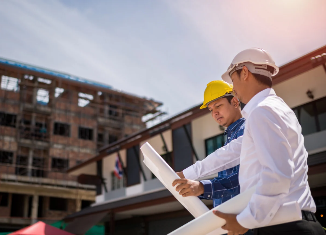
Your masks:
[[[35,72],[39,72],[39,73],[43,73],[43,74],[48,74],[48,75],[52,75],[52,76],[56,76],[56,77],[61,77],[61,78],[69,79],[69,80],[74,80],[74,81],[86,83],[86,84],[89,84],[89,85],[94,85],[94,86],[99,86],[99,87],[103,87],[103,88],[107,88],[107,89],[112,89],[112,87],[109,86],[109,85],[89,81],[89,80],[86,80],[84,78],[80,78],[80,77],[76,77],[76,76],[72,76],[72,75],[68,75],[68,74],[63,74],[63,73],[59,73],[59,72],[56,72],[56,71],[51,71],[51,70],[48,70],[48,69],[44,69],[44,68],[36,67],[36,66],[33,66],[33,65],[28,65],[28,64],[21,63],[21,62],[16,62],[16,61],[4,59],[4,58],[0,58],[0,63],[15,66],[15,67],[19,67],[19,68],[22,68],[22,69],[28,69],[28,70],[31,70],[31,71],[35,71]]]

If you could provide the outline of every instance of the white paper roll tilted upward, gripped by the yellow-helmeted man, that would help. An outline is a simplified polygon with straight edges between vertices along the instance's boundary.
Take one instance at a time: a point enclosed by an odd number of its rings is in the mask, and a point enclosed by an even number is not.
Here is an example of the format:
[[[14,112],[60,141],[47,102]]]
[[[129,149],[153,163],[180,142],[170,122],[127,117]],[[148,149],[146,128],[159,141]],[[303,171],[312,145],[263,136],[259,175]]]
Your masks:
[[[196,196],[183,197],[172,187],[172,182],[180,177],[172,170],[154,148],[147,142],[141,146],[144,155],[144,163],[172,195],[192,214],[195,218],[209,211],[207,206]]]

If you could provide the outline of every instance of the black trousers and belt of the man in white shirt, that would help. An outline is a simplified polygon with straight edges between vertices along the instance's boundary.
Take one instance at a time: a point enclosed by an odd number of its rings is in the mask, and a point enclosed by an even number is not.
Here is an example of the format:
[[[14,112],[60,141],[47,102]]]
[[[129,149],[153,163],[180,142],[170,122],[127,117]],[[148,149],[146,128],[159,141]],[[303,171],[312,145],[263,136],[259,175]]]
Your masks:
[[[302,212],[302,220],[285,224],[255,228],[254,235],[325,235],[315,214]]]

